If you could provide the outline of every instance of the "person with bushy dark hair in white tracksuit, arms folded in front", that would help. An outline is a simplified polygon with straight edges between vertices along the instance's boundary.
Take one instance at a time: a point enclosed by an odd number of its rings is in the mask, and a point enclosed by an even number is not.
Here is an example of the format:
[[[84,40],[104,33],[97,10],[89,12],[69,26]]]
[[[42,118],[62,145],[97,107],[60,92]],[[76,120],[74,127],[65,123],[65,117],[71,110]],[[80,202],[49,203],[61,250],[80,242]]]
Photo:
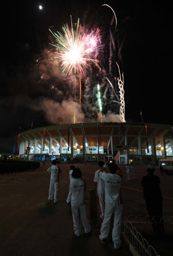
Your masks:
[[[71,188],[72,188],[72,196],[71,196],[71,206],[72,206],[72,214],[73,214],[73,228],[74,235],[81,236],[81,226],[79,221],[79,210],[80,216],[82,220],[82,224],[84,226],[84,236],[91,235],[91,225],[89,224],[88,218],[86,217],[86,206],[85,206],[85,198],[84,198],[84,189],[86,190],[85,181],[81,179],[82,173],[81,170],[75,168],[72,173]]]

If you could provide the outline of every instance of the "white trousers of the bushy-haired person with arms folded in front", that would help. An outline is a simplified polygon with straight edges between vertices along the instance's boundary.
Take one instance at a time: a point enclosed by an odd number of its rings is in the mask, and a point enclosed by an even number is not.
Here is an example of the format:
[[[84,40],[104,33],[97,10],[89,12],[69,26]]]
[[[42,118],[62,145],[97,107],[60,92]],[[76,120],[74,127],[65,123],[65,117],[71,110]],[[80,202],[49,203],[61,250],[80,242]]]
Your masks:
[[[78,216],[78,213],[79,213],[78,210],[80,210],[80,216],[82,220],[82,225],[84,226],[84,229],[85,229],[85,233],[91,232],[91,226],[89,225],[89,221],[86,216],[86,206],[72,205],[73,228],[74,228],[74,234],[76,236],[81,235],[81,225],[80,225],[80,220]]]

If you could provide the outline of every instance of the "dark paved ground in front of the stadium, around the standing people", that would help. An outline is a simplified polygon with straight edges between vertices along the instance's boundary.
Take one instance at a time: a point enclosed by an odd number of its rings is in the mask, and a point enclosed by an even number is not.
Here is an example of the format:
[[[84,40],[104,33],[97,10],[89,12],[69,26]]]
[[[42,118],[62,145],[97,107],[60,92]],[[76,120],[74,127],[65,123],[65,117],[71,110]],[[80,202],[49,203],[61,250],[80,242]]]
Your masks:
[[[73,233],[72,212],[65,199],[69,188],[69,165],[60,165],[63,173],[59,184],[59,203],[47,203],[50,176],[44,168],[35,171],[0,176],[0,248],[3,256],[40,255],[131,255],[122,243],[122,250],[114,251],[111,238],[107,245],[99,242],[101,221],[92,220],[92,236],[76,238]],[[97,165],[82,165],[88,189],[94,187],[93,176]],[[124,166],[122,196],[123,213],[126,216],[147,215],[142,198],[141,177],[145,166],[134,166],[138,180],[127,181]],[[164,196],[164,216],[173,215],[173,176],[160,176]],[[89,196],[86,200],[89,217]],[[157,251],[157,248],[156,248]],[[157,252],[159,253],[159,252]]]

